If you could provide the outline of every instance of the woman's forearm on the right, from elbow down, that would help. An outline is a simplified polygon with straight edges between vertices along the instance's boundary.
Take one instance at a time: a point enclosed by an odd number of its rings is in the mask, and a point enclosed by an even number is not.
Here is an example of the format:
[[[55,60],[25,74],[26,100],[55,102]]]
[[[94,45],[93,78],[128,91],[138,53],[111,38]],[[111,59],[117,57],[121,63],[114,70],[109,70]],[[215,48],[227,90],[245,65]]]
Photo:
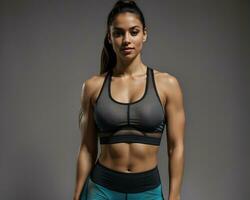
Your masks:
[[[169,200],[180,200],[184,168],[184,146],[179,145],[169,153]]]

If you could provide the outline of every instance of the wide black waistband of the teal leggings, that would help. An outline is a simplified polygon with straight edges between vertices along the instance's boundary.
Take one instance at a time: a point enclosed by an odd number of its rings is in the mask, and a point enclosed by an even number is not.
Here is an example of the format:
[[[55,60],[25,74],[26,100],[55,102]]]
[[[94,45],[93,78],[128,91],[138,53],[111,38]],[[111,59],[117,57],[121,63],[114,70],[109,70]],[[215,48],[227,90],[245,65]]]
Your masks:
[[[119,172],[107,168],[97,160],[90,173],[91,180],[110,190],[123,193],[144,192],[161,184],[158,166],[143,172]]]

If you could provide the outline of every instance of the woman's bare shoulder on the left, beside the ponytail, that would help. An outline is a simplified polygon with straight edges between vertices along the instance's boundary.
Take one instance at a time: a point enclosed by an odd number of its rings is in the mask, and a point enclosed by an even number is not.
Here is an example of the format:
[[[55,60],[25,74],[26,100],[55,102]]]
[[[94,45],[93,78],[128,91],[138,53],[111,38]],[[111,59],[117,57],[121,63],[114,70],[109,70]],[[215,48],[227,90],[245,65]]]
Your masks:
[[[84,97],[88,98],[91,103],[94,103],[96,93],[101,89],[107,72],[103,74],[95,74],[90,76],[82,83],[81,89],[81,102],[83,102]]]

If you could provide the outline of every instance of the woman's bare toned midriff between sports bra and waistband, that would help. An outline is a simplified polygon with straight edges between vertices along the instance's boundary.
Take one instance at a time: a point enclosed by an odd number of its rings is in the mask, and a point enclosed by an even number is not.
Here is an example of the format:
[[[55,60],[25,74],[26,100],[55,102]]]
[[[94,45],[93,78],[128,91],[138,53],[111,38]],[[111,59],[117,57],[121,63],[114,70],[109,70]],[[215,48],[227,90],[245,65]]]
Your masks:
[[[135,173],[157,165],[159,146],[141,143],[101,144],[99,162],[119,172]]]

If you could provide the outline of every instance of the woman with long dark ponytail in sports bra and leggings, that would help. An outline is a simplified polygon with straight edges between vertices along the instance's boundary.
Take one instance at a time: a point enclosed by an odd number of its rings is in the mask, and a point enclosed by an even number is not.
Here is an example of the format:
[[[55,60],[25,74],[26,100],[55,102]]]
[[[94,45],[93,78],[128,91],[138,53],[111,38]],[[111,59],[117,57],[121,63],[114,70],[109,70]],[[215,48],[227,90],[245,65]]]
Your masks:
[[[164,199],[157,153],[165,124],[168,199],[180,199],[185,123],[182,92],[175,77],[142,62],[146,39],[144,17],[136,3],[116,2],[107,20],[101,73],[82,86],[82,142],[74,200]],[[101,151],[97,159],[98,137]]]

